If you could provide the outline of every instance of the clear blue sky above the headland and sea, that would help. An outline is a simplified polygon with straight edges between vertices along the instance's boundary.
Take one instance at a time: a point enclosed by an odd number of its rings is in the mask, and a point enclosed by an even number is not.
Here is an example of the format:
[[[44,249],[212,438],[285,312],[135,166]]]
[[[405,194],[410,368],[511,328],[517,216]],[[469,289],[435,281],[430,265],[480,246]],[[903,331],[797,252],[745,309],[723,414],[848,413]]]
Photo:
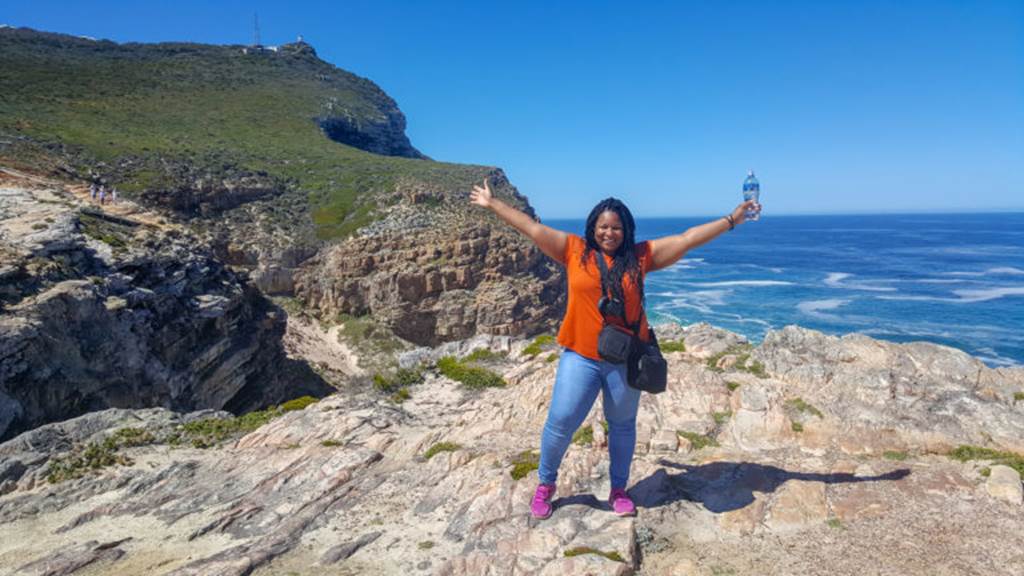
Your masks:
[[[1024,210],[1024,2],[57,2],[0,24],[118,42],[302,34],[437,160],[542,217]]]

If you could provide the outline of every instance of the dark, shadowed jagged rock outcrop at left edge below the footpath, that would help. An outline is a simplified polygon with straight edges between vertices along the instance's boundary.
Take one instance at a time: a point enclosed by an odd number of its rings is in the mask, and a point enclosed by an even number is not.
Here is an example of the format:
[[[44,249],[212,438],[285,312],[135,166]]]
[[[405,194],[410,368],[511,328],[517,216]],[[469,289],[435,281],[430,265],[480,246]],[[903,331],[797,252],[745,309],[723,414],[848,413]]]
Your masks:
[[[286,358],[284,313],[183,229],[52,183],[0,186],[0,438],[108,407],[328,392]]]

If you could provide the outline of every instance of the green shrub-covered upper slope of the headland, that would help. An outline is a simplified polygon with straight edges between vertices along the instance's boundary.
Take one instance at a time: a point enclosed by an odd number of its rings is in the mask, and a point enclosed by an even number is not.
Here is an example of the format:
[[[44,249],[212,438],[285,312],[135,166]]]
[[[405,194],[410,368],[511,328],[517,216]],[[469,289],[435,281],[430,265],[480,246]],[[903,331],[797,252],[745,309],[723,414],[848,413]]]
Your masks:
[[[369,80],[311,54],[0,30],[0,136],[67,145],[87,159],[83,169],[131,159],[134,168],[119,172],[129,193],[167,183],[164,159],[264,171],[308,195],[321,238],[371,220],[374,193],[399,179],[466,190],[486,173],[362,152],[328,139],[313,121],[342,111],[383,118],[393,107]],[[31,165],[33,156],[0,148],[9,162]]]

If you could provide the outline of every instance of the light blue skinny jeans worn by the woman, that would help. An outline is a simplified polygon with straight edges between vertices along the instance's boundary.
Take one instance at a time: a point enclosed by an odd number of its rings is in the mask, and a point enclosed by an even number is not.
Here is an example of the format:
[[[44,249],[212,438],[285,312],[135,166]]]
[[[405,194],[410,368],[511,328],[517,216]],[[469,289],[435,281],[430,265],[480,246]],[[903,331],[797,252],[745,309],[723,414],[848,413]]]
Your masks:
[[[604,395],[604,419],[608,422],[611,488],[626,488],[637,441],[640,390],[626,383],[625,365],[591,360],[567,348],[558,363],[548,421],[541,436],[538,475],[542,484],[555,484],[572,435],[594,406],[599,392]]]

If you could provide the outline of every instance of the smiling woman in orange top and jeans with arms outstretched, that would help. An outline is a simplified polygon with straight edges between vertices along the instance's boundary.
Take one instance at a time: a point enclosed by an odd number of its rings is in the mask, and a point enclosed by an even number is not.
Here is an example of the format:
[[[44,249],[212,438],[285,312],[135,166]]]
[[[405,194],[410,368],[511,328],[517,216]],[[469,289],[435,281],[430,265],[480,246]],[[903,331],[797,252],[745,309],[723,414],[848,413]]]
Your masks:
[[[565,266],[568,278],[568,303],[558,331],[558,343],[565,351],[558,363],[548,419],[541,436],[540,485],[534,494],[530,512],[538,519],[551,516],[558,466],[573,433],[587,417],[600,392],[608,422],[611,460],[608,504],[618,516],[635,515],[636,506],[626,486],[636,444],[640,392],[627,384],[625,364],[610,364],[598,356],[597,336],[604,317],[598,308],[602,290],[595,258],[604,258],[612,279],[612,296],[626,304],[627,320],[623,324],[635,324],[639,319],[640,338],[648,341],[650,331],[641,302],[644,275],[674,264],[690,249],[742,223],[748,209],[760,210],[761,207],[753,200],[744,202],[727,216],[682,234],[636,244],[633,215],[614,198],[601,201],[591,210],[585,238],[544,225],[495,198],[486,178],[482,187],[473,187],[469,198],[473,204],[490,209],[526,235],[542,252]]]

